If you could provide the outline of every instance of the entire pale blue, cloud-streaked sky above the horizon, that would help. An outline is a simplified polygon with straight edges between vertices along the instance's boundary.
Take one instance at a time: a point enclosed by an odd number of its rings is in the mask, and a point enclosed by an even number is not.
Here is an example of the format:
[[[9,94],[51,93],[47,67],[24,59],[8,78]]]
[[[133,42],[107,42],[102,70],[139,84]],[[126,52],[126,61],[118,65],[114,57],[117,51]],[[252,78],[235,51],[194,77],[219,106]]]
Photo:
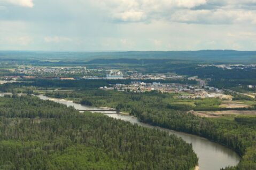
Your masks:
[[[0,0],[0,50],[256,50],[256,0]]]

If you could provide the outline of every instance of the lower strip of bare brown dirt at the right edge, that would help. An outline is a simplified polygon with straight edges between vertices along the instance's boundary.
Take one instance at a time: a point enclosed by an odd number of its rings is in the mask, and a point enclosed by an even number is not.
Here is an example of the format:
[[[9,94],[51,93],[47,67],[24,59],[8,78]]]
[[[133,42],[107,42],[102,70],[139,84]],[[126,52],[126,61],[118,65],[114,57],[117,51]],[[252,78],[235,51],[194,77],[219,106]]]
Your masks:
[[[217,118],[222,115],[256,115],[256,110],[189,111],[200,117]]]

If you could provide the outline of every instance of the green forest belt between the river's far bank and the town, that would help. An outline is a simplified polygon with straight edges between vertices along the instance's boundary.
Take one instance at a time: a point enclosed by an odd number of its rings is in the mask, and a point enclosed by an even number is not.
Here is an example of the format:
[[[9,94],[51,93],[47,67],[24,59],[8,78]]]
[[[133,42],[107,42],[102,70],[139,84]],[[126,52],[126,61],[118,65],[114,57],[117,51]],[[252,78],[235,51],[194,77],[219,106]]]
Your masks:
[[[182,108],[170,107],[173,102],[173,94],[165,93],[150,92],[137,94],[94,90],[49,93],[48,95],[59,98],[71,98],[76,102],[90,104],[91,106],[107,106],[121,109],[130,112],[131,115],[138,117],[142,122],[151,125],[206,137],[207,139],[227,145],[243,156],[241,163],[235,169],[256,169],[256,157],[255,152],[253,152],[256,148],[256,124],[245,123],[250,118],[201,118],[191,113],[180,111]],[[211,106],[215,107],[215,104],[219,102],[218,99],[214,100],[204,99],[200,102],[195,101],[194,107],[200,109],[204,109],[204,107],[207,109],[207,107]],[[188,104],[186,102],[183,103]],[[191,104],[190,106],[193,107]]]

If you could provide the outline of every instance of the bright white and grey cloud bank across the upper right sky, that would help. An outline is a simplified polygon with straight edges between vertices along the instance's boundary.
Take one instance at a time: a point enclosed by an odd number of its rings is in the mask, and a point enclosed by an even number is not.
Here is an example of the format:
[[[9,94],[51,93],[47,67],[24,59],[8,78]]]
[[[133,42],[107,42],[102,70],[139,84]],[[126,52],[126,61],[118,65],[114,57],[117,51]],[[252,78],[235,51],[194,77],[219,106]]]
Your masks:
[[[255,0],[94,0],[91,4],[117,22],[256,23]]]

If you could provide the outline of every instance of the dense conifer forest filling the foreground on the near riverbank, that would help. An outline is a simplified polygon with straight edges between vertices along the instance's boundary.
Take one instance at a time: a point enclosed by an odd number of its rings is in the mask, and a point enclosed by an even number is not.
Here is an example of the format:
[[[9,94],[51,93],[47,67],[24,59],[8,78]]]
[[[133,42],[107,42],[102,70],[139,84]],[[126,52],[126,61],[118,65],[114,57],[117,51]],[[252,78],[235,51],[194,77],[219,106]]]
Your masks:
[[[198,162],[192,145],[35,96],[0,98],[0,169],[173,169]]]

